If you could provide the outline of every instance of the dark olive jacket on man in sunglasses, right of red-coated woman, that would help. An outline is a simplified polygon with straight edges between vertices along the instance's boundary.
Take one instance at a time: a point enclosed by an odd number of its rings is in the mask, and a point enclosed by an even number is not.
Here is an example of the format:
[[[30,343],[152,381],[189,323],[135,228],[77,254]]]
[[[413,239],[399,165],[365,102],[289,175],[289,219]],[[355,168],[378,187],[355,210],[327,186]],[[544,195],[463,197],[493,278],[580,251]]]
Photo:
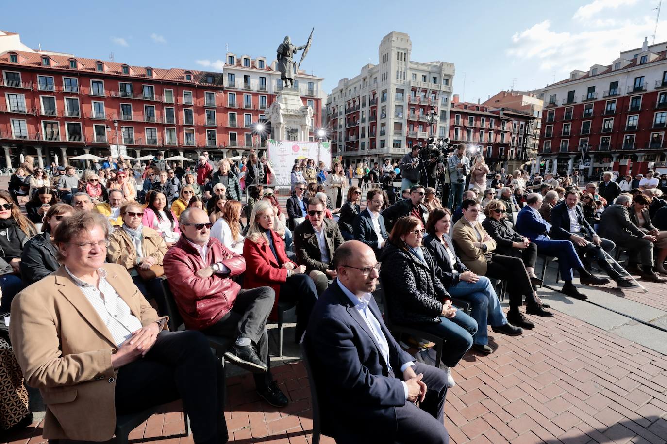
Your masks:
[[[322,254],[319,250],[319,241],[310,220],[303,221],[303,224],[299,224],[294,230],[294,248],[297,262],[300,265],[306,266],[307,273],[313,270],[325,272],[327,268],[333,270],[333,264],[331,264],[333,252],[336,251],[336,248],[340,244],[345,242],[335,220],[325,218],[322,222],[324,224],[322,227],[324,230],[324,242],[327,244],[327,253],[329,254],[328,263],[321,261]]]

